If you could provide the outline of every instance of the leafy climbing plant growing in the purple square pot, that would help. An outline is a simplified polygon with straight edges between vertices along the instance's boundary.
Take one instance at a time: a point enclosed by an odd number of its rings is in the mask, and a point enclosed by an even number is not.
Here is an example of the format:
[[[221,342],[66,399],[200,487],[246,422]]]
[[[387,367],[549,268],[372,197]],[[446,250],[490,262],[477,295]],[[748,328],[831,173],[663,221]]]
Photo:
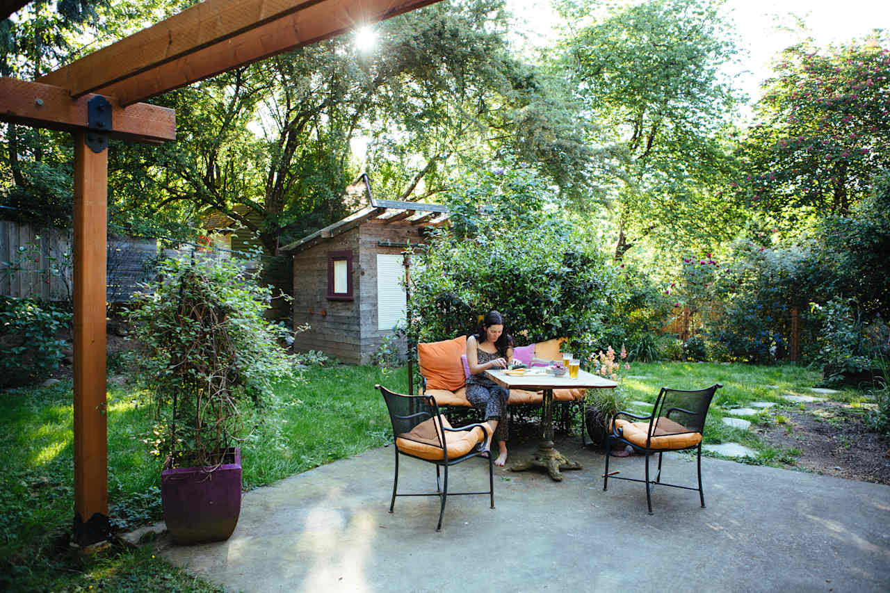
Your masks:
[[[293,377],[281,329],[263,319],[271,290],[228,260],[166,260],[130,318],[157,410],[166,467],[214,466],[250,431],[248,412]]]

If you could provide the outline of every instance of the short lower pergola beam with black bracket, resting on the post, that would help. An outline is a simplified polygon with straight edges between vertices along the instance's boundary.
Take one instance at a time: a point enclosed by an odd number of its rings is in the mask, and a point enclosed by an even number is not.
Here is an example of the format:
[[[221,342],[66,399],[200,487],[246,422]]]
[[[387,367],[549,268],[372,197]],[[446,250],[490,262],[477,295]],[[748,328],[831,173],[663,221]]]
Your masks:
[[[0,121],[64,132],[86,131],[86,104],[94,96],[85,94],[75,101],[59,86],[0,77]],[[115,98],[106,99],[111,105],[111,138],[133,142],[176,139],[174,110],[147,103],[123,108]]]

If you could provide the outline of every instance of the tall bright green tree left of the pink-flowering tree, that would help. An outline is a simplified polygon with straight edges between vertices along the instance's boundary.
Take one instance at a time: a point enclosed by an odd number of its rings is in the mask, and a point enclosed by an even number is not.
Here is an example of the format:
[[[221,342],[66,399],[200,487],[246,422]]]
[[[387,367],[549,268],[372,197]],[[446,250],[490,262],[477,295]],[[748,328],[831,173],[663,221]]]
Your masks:
[[[725,236],[739,218],[718,192],[733,175],[723,141],[736,104],[718,69],[736,52],[709,0],[648,0],[595,14],[563,2],[570,20],[592,20],[562,42],[598,150],[590,175],[617,220],[615,258],[645,237],[675,244]]]

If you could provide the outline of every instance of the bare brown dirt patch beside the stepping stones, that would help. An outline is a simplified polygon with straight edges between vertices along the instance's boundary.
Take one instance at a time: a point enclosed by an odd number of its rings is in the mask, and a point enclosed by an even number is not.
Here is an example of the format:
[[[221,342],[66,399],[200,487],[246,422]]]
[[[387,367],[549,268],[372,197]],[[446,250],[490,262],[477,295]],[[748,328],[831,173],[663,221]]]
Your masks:
[[[848,403],[811,402],[805,410],[776,410],[776,422],[756,433],[777,451],[801,451],[790,464],[795,467],[890,484],[890,438],[870,432],[864,416]]]

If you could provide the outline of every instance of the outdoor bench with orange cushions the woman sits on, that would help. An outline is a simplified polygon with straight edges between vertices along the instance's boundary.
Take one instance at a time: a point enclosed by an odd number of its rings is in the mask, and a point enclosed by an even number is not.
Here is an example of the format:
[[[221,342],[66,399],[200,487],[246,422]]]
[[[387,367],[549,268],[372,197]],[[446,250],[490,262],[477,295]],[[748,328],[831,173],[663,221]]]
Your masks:
[[[546,342],[514,348],[514,360],[522,360],[522,355],[517,357],[518,350],[526,349],[524,353],[531,358],[543,361],[562,361],[560,345],[566,338],[554,338]],[[420,366],[421,386],[423,394],[432,395],[436,404],[440,407],[472,410],[473,405],[466,399],[465,380],[469,375],[469,369],[461,361],[461,355],[466,353],[466,336],[456,337],[441,342],[428,342],[417,344],[417,361]],[[582,403],[586,389],[554,389],[554,403]],[[526,391],[523,389],[511,389],[510,399],[507,405],[510,407],[530,404],[540,406],[544,400],[542,391]],[[568,412],[568,410],[565,410]],[[584,421],[584,414],[581,415]],[[567,418],[563,418],[563,422]],[[582,438],[584,427],[582,424]]]

